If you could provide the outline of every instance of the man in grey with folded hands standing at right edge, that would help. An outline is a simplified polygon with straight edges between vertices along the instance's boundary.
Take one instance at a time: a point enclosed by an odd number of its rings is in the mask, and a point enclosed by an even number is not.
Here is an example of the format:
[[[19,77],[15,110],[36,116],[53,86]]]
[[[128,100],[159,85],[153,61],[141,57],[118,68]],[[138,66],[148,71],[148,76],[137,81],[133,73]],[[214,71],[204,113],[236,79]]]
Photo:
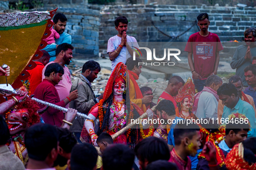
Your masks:
[[[250,27],[247,28],[244,31],[244,45],[240,45],[237,47],[235,54],[233,55],[232,62],[230,63],[230,66],[232,69],[236,70],[236,75],[240,76],[243,80],[243,85],[248,86],[243,69],[246,68],[246,66],[249,66],[252,64],[253,56],[256,56],[256,28]]]

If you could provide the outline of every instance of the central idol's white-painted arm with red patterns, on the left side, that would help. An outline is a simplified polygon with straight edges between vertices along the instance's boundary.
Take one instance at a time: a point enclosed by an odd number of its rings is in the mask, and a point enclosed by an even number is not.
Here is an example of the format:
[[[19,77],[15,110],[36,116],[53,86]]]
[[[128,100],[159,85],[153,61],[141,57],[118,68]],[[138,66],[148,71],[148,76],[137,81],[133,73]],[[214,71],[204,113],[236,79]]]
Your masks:
[[[94,121],[96,117],[98,116],[98,107],[95,107],[89,114],[88,116],[91,118],[91,120],[85,120],[84,126],[87,132],[89,133],[91,137],[91,142],[93,143],[94,146],[97,146],[97,138],[98,136],[95,133],[94,129]]]

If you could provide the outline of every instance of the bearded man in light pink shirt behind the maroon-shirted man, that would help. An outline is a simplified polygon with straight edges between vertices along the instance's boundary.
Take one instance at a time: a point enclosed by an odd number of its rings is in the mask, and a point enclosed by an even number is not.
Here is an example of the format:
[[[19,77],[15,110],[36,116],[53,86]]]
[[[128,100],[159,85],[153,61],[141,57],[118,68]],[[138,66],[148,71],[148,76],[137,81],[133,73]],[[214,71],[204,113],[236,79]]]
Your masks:
[[[72,50],[74,50],[74,47],[71,44],[63,43],[63,44],[58,45],[58,47],[56,49],[56,59],[54,61],[51,61],[48,64],[46,64],[45,68],[42,71],[42,79],[44,79],[45,78],[45,75],[44,75],[45,69],[49,64],[59,63],[63,67],[64,74],[62,76],[62,81],[60,81],[57,85],[55,85],[55,88],[58,91],[60,101],[67,98],[67,96],[69,95],[71,85],[72,85],[70,71],[69,71],[68,67],[65,66],[65,64],[69,65],[71,59],[73,58]],[[71,100],[69,99],[69,102],[70,101]],[[66,108],[68,108],[68,104],[66,105]]]

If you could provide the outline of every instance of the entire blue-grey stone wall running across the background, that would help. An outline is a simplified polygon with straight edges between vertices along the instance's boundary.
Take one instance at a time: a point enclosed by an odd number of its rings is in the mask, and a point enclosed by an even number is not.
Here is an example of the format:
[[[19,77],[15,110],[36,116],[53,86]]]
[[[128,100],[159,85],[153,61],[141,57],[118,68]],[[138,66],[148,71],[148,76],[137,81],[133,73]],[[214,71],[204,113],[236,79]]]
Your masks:
[[[117,35],[114,20],[121,15],[129,20],[127,35],[140,42],[186,42],[199,31],[196,17],[204,12],[210,16],[209,31],[216,33],[222,42],[243,41],[245,29],[256,25],[256,8],[251,7],[87,5],[60,7],[57,12],[68,18],[66,31],[72,36],[75,54],[85,57],[96,56],[99,49],[106,54],[108,39]]]

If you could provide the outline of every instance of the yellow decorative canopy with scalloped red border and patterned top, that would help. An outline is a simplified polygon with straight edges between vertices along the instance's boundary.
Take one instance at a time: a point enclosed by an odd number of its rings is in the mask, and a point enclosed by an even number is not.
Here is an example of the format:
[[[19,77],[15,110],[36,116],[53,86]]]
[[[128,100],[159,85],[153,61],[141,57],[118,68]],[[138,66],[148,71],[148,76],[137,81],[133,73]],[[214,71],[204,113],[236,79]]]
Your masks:
[[[13,88],[20,88],[30,70],[36,67],[32,60],[42,56],[47,43],[42,39],[51,35],[52,17],[56,9],[45,12],[0,13],[0,66],[10,66],[7,81]],[[0,76],[0,84],[5,84]]]

